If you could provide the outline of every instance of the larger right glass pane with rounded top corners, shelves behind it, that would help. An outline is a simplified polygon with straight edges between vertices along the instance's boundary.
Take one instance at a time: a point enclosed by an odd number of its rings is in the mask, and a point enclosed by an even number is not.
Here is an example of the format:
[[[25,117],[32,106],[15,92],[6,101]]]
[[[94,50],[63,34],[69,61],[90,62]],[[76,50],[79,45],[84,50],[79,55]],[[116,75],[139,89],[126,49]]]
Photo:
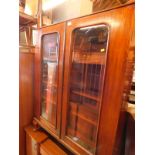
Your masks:
[[[108,27],[75,29],[67,135],[91,153],[96,149],[97,126],[105,69]]]

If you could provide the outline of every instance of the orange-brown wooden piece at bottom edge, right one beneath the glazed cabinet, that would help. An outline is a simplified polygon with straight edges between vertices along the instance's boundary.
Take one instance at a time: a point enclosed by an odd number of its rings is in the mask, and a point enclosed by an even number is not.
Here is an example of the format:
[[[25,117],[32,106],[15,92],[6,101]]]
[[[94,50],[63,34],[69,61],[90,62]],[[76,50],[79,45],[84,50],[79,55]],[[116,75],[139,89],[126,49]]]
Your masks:
[[[41,155],[67,155],[56,143],[52,140],[47,139],[40,146]]]

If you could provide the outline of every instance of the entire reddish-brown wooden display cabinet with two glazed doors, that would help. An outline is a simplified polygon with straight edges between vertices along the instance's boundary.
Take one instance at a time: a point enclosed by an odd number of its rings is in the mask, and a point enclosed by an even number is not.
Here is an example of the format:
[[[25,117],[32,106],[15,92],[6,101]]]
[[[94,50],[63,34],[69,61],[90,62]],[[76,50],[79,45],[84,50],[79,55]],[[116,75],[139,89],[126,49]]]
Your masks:
[[[39,30],[35,120],[75,154],[112,155],[134,4]]]

